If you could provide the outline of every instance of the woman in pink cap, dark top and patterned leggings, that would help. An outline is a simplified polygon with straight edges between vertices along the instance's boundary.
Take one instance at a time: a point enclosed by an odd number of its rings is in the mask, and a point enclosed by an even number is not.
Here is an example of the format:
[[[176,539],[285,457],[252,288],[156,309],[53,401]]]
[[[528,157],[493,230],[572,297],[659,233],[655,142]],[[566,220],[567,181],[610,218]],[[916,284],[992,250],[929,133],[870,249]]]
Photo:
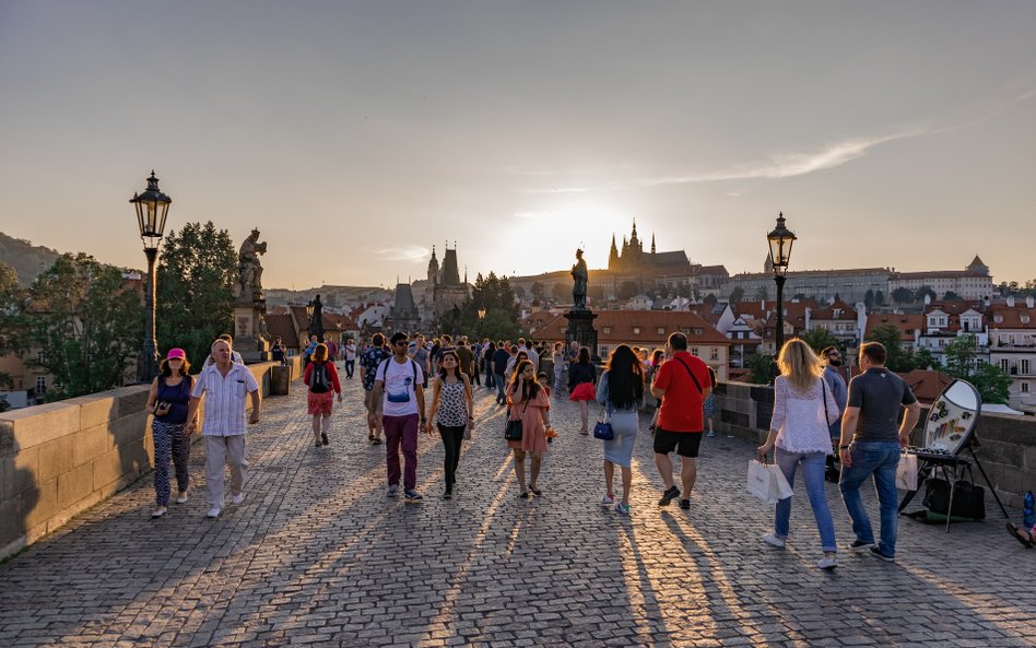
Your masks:
[[[188,375],[190,363],[183,349],[170,349],[160,365],[161,374],[148,393],[148,413],[153,414],[151,433],[155,443],[155,510],[161,518],[169,505],[169,458],[176,467],[177,504],[187,502],[190,475],[190,433],[187,432],[187,405],[195,380]]]

